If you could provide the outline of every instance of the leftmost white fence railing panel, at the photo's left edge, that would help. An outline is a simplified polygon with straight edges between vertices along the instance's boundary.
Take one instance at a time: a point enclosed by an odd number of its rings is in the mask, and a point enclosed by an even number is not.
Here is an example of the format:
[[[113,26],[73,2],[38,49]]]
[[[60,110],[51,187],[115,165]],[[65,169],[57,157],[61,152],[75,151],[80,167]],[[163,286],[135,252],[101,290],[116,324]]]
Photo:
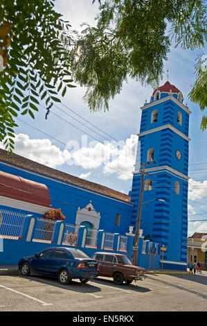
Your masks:
[[[26,214],[0,210],[0,235],[3,237],[21,238]]]

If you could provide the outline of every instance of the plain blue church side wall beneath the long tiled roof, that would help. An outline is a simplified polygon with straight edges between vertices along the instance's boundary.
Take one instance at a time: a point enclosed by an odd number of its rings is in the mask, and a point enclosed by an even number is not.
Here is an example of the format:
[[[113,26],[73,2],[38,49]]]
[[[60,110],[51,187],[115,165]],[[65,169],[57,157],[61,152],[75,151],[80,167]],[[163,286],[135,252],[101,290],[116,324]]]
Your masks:
[[[83,208],[89,204],[90,200],[97,212],[100,212],[100,229],[108,232],[119,232],[125,234],[129,231],[133,205],[121,200],[115,200],[107,196],[94,194],[86,189],[78,189],[66,182],[60,182],[44,175],[37,175],[25,169],[17,169],[1,162],[1,171],[19,175],[22,178],[43,183],[48,187],[53,208],[61,208],[62,214],[66,216],[66,223],[75,223],[78,207]],[[29,214],[29,212],[26,212]],[[116,226],[116,214],[120,214],[120,225]],[[36,214],[37,215],[37,214]]]

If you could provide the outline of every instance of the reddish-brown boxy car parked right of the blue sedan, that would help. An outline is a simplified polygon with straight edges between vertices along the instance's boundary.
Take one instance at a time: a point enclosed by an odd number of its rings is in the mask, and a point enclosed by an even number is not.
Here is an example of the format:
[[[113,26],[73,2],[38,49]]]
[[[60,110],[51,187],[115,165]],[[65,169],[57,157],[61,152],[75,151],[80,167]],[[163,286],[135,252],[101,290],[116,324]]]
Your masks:
[[[132,265],[126,255],[96,252],[92,258],[98,261],[98,276],[113,277],[115,284],[123,284],[124,281],[130,284],[145,277],[145,268]]]

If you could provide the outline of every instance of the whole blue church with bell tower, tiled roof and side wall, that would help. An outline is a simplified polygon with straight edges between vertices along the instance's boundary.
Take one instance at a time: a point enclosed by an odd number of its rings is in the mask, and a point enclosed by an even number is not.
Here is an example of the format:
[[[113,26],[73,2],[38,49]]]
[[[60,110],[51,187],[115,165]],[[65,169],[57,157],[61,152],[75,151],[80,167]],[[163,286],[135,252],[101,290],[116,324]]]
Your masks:
[[[135,232],[145,164],[143,236],[167,248],[165,268],[185,269],[190,110],[168,81],[154,90],[141,110],[140,150],[129,195],[0,149],[0,210],[42,216],[60,208],[65,222],[77,227],[125,235],[134,226]]]

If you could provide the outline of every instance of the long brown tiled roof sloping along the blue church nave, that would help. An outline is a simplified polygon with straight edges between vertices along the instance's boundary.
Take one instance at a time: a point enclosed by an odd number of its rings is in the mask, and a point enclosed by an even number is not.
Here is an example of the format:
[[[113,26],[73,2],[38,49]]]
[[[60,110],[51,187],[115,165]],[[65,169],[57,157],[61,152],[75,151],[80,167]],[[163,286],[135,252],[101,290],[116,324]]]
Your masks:
[[[69,182],[71,185],[75,185],[83,189],[95,191],[98,194],[102,194],[105,196],[116,198],[118,200],[123,200],[126,203],[130,203],[130,197],[125,194],[122,194],[119,191],[110,189],[102,185],[98,185],[95,182],[83,180],[81,178],[75,177],[74,175],[70,175],[68,173],[64,173],[62,171],[52,169],[44,164],[40,164],[32,160],[28,160],[26,157],[22,157],[15,153],[8,153],[8,151],[5,151],[1,148],[0,148],[0,161],[18,166],[28,171],[39,173],[43,176],[45,175],[47,177],[55,178],[57,180]]]

